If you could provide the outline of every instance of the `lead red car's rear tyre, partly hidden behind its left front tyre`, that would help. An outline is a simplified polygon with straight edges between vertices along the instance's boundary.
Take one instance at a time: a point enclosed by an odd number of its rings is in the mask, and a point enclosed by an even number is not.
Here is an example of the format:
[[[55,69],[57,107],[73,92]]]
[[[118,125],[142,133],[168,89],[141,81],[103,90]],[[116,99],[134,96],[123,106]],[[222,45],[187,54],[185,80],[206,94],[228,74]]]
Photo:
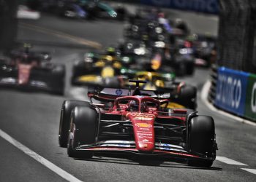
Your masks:
[[[75,106],[90,106],[86,101],[65,100],[61,107],[61,118],[59,122],[59,146],[67,147],[67,138],[69,135],[69,124],[71,111]]]

